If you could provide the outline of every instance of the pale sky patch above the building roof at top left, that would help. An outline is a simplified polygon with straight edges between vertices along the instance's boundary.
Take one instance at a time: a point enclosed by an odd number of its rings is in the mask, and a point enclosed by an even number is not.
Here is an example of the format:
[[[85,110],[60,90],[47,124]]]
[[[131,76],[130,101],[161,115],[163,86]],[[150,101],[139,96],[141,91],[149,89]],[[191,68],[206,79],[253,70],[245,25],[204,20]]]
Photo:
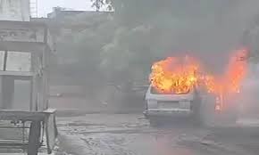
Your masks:
[[[38,0],[38,17],[46,17],[46,14],[52,12],[52,8],[55,6],[74,10],[93,10],[90,0]]]

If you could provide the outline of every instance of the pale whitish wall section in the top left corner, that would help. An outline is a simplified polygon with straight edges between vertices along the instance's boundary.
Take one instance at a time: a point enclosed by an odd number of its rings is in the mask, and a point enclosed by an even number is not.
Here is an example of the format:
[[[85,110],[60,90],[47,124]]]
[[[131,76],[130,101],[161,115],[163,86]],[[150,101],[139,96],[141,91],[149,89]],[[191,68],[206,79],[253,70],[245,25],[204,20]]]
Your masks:
[[[29,21],[29,0],[0,0],[0,20]]]

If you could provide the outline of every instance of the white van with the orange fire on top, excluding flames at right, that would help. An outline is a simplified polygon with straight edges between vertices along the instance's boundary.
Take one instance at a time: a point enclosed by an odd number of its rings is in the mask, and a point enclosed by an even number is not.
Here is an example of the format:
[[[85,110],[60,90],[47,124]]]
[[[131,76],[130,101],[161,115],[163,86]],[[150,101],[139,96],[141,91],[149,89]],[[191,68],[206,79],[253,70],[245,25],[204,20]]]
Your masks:
[[[198,113],[198,69],[198,63],[188,56],[155,62],[144,111],[152,125],[159,123],[159,118],[191,117]]]

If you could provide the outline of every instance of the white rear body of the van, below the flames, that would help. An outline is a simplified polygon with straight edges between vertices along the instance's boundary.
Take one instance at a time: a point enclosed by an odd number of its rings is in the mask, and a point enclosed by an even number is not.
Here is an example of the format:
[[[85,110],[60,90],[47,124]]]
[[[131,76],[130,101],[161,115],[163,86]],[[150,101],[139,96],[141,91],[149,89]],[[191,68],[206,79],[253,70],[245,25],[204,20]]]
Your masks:
[[[157,125],[160,118],[194,117],[199,114],[200,95],[196,88],[186,94],[160,94],[153,86],[146,92],[146,110],[144,115],[151,125]]]

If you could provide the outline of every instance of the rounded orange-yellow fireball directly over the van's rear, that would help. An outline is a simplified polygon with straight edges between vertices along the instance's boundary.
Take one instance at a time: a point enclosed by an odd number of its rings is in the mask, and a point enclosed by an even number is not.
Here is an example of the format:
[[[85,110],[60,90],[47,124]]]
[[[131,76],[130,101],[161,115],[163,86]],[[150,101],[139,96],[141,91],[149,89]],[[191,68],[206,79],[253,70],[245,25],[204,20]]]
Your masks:
[[[186,56],[183,59],[169,57],[155,62],[150,82],[163,94],[186,94],[196,85],[198,63]]]

